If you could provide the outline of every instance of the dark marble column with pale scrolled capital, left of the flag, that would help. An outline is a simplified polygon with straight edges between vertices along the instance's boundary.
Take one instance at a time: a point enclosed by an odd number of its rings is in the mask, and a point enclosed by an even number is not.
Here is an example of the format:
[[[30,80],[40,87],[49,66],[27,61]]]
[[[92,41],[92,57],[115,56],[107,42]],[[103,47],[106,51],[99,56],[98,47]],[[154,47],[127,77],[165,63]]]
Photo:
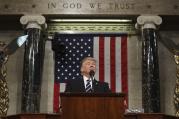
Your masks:
[[[21,17],[20,22],[28,35],[24,53],[21,111],[38,113],[45,47],[45,39],[42,39],[41,35],[45,18],[40,15],[26,15]]]

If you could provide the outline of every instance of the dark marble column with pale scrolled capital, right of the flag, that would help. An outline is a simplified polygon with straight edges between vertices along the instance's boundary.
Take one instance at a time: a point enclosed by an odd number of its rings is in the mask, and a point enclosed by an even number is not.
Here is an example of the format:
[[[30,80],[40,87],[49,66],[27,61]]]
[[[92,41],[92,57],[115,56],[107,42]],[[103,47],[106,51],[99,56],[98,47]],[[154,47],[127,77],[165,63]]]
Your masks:
[[[159,16],[137,18],[142,35],[142,105],[146,113],[160,112],[157,25],[161,23]]]

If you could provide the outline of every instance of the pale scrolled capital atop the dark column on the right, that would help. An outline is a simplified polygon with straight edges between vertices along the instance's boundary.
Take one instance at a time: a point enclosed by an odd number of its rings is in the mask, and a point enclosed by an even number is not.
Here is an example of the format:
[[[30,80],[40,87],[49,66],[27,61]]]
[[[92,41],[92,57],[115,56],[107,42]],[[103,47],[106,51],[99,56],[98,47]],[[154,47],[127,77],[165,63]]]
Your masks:
[[[160,16],[154,15],[141,15],[137,17],[136,29],[142,28],[153,28],[159,26],[162,23],[162,18]]]

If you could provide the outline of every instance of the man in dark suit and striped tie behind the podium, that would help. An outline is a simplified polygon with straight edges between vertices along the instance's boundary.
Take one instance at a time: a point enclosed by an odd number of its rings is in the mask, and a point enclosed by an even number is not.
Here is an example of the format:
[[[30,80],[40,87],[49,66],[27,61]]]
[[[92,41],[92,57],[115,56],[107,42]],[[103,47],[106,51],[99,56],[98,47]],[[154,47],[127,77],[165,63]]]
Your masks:
[[[81,62],[81,75],[78,79],[69,80],[66,84],[65,92],[111,92],[106,82],[97,81],[94,78],[96,72],[96,60],[86,57]]]

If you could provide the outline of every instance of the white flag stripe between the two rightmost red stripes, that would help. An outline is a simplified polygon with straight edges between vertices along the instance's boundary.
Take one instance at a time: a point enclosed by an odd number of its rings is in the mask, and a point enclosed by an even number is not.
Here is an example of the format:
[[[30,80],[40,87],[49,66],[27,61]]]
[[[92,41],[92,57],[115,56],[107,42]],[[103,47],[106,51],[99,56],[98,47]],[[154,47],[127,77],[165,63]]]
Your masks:
[[[121,37],[116,37],[116,92],[122,92],[121,86]]]

